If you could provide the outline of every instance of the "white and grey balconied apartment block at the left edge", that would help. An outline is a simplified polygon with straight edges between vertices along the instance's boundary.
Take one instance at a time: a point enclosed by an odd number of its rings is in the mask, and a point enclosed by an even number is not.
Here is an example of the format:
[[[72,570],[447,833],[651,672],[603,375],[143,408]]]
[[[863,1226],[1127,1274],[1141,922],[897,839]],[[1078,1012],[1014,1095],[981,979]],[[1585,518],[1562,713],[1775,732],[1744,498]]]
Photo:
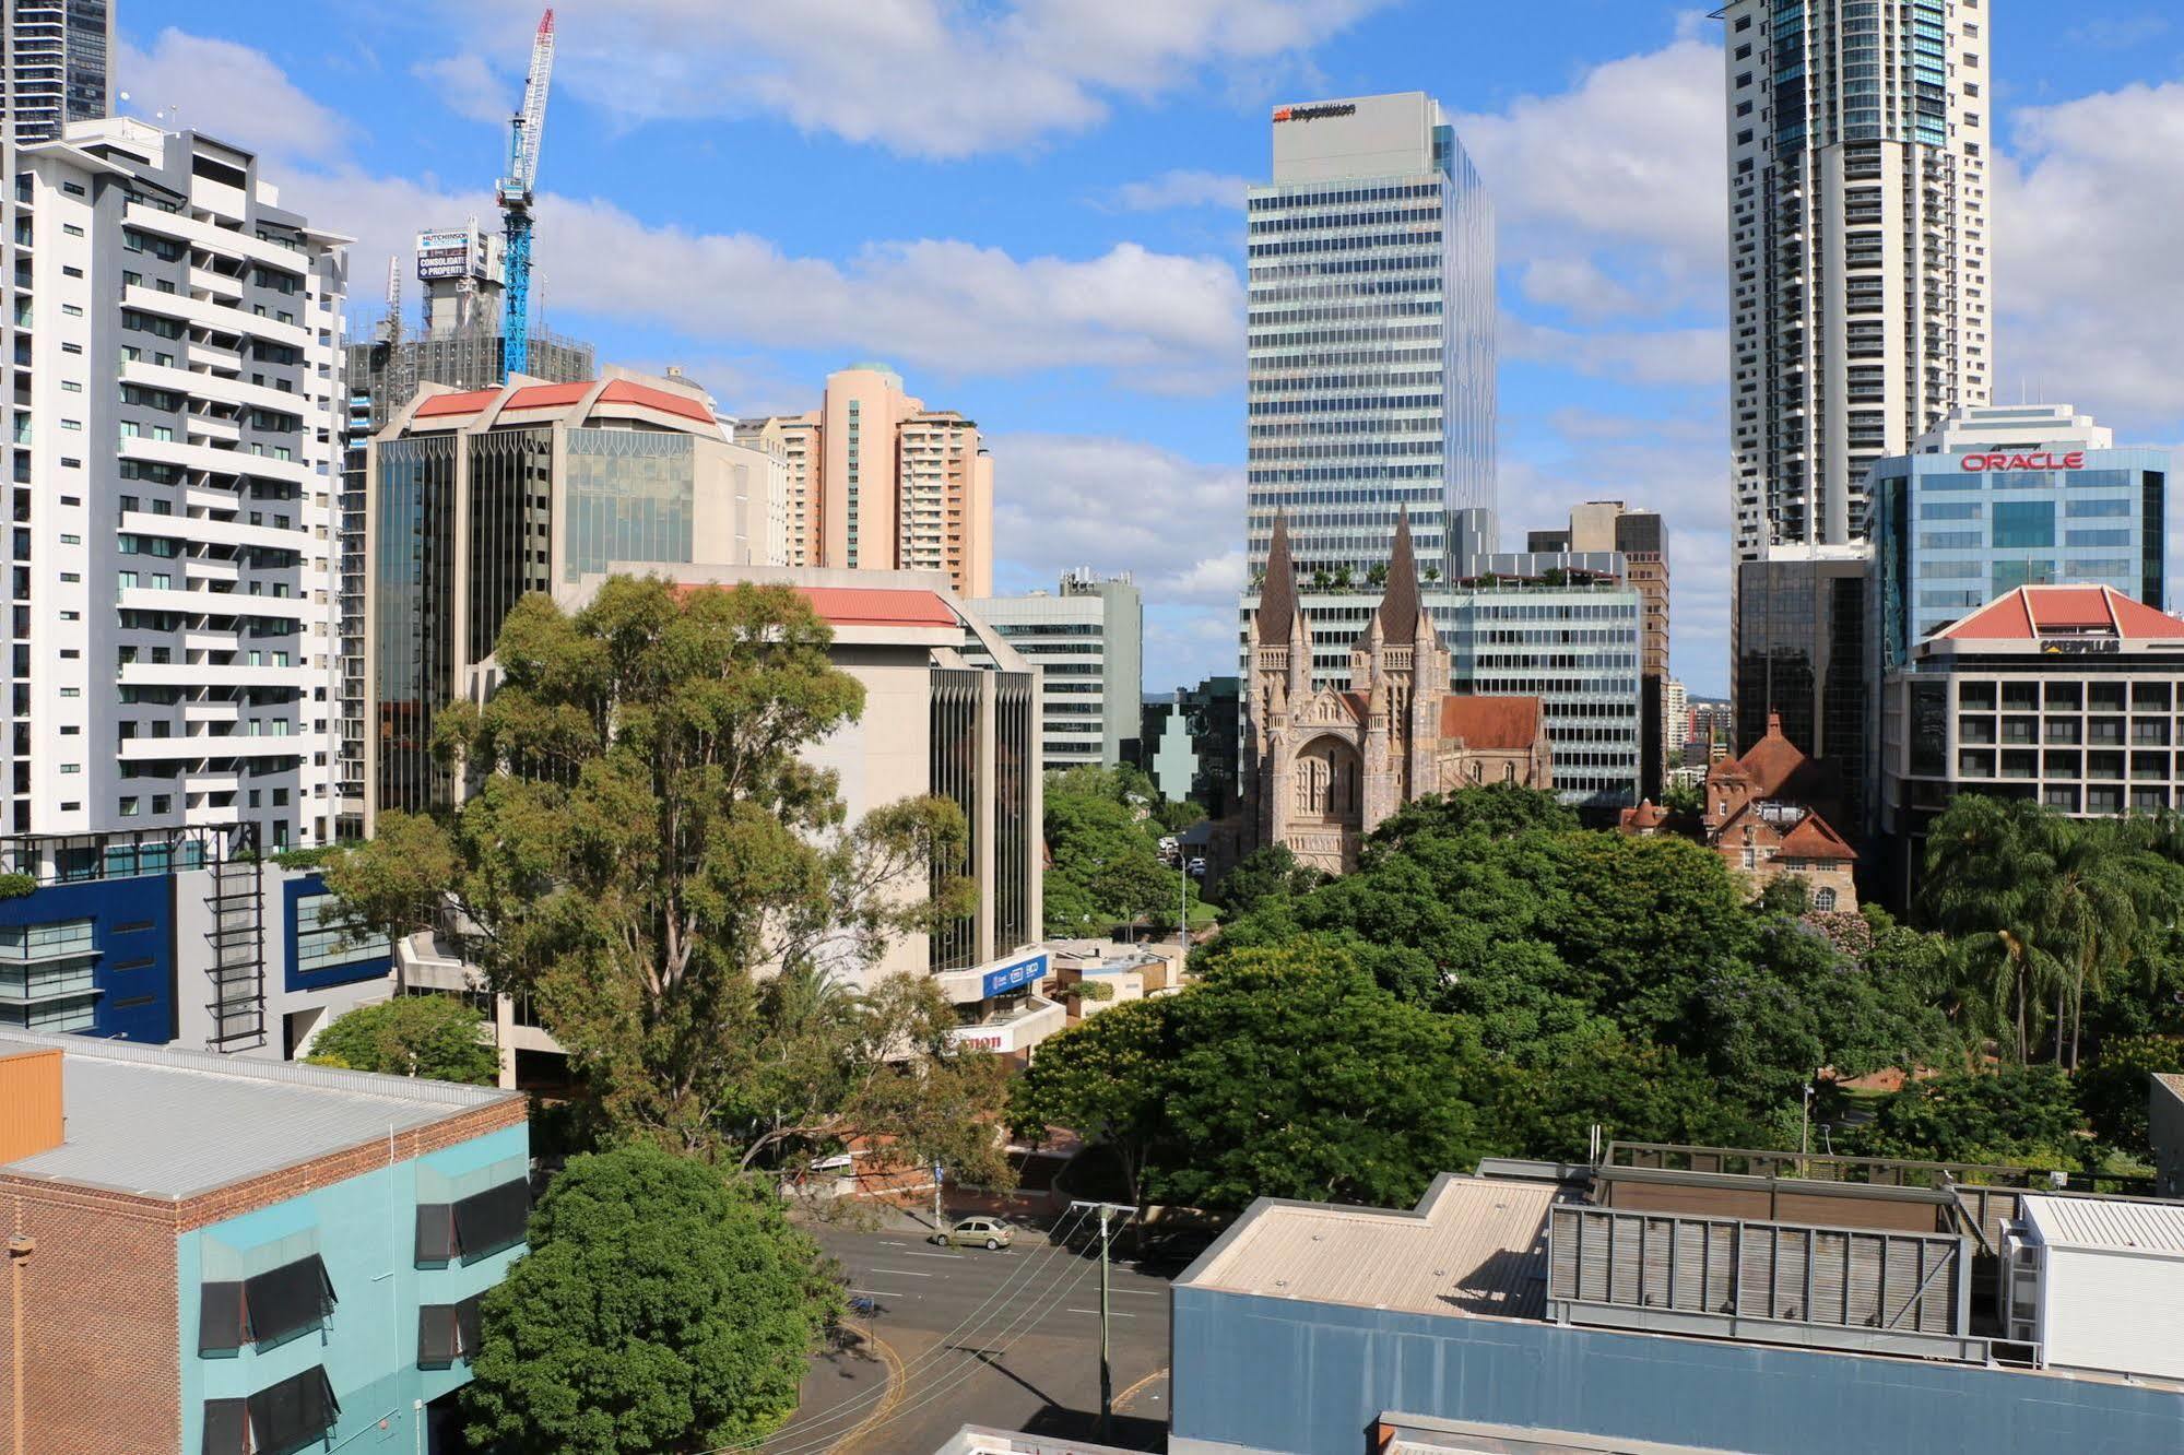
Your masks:
[[[13,155],[4,830],[323,843],[343,238],[205,135]]]

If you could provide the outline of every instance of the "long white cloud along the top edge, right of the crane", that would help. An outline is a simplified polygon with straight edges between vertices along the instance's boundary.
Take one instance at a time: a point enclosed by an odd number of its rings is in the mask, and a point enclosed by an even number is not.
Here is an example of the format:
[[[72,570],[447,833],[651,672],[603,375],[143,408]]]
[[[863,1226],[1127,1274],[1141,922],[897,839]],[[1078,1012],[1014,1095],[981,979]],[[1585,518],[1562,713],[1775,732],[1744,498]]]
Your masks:
[[[555,85],[625,122],[771,111],[917,157],[1013,151],[1144,100],[1293,59],[1387,0],[620,0],[566,7]],[[432,7],[443,15],[441,7]],[[470,7],[511,48],[535,0]],[[498,52],[498,50],[496,50]]]

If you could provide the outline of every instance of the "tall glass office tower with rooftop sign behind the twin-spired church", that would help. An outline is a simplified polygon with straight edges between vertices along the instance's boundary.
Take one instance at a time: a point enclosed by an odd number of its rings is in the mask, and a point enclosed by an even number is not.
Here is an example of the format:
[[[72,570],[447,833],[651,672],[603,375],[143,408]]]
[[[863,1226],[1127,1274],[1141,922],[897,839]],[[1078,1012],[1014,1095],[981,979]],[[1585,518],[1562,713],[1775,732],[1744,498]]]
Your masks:
[[[1422,92],[1273,109],[1273,179],[1249,190],[1249,500],[1267,570],[1284,516],[1297,566],[1365,583],[1409,518],[1426,581],[1452,577],[1444,511],[1494,509],[1494,210]],[[1241,620],[1258,605],[1245,594]],[[1354,631],[1306,618],[1313,679]]]

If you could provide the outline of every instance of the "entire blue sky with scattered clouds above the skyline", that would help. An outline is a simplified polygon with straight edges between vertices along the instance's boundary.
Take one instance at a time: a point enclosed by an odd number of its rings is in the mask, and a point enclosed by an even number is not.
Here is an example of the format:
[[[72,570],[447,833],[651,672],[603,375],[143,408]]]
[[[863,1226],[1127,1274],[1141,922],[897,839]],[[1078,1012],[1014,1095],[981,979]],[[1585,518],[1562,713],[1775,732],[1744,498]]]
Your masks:
[[[1963,2],[1963,0],[1959,0]],[[1992,11],[1998,376],[2184,439],[2184,7]],[[124,0],[127,109],[269,155],[389,249],[489,216],[533,0]],[[992,437],[1002,590],[1136,570],[1149,690],[1234,671],[1241,186],[1273,100],[1426,90],[1500,216],[1505,537],[1671,520],[1675,671],[1725,690],[1719,26],[1649,0],[574,0],[548,323],[727,413],[895,363]],[[415,284],[413,284],[415,288]]]

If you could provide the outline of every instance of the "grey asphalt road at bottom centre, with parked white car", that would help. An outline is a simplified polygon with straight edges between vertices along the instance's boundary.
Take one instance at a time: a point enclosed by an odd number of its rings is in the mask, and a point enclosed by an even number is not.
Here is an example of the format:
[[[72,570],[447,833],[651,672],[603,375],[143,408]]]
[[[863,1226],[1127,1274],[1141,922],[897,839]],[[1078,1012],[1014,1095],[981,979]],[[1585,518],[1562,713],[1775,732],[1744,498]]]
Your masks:
[[[819,1361],[806,1403],[771,1455],[939,1448],[963,1424],[1092,1438],[1099,1422],[1099,1258],[1035,1230],[1016,1247],[935,1247],[917,1232],[817,1230],[869,1328],[895,1361]],[[1166,1435],[1168,1282],[1116,1263],[1109,1274],[1116,1424],[1107,1440],[1160,1448]],[[858,1333],[865,1317],[856,1320]],[[1129,1394],[1127,1403],[1120,1396]]]

